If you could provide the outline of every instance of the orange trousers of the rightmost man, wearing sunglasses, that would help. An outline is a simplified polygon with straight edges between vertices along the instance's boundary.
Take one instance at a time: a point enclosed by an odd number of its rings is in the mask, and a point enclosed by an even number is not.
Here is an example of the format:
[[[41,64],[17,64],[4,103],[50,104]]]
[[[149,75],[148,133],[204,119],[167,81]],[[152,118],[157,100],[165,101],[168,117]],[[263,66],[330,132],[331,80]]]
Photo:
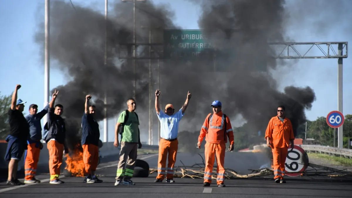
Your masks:
[[[285,161],[288,153],[288,147],[278,148],[274,147],[272,150],[274,179],[284,178],[285,175]]]

